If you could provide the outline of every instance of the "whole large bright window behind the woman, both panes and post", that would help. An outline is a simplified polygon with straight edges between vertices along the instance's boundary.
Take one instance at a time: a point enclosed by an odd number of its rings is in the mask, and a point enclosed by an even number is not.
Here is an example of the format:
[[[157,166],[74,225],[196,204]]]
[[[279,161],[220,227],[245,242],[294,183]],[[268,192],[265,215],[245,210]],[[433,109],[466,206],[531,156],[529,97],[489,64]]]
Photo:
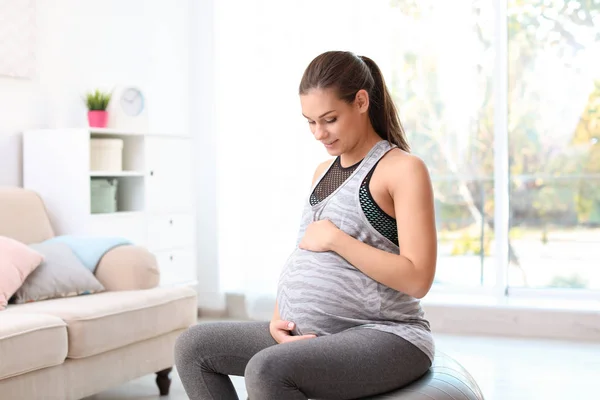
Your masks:
[[[600,2],[390,7],[388,81],[436,195],[436,285],[600,289]]]

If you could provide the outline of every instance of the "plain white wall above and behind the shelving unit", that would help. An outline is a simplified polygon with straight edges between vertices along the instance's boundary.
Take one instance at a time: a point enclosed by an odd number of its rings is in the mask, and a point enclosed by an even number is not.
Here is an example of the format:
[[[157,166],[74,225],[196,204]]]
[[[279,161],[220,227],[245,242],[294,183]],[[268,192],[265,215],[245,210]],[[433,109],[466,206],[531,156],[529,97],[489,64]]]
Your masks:
[[[96,87],[138,84],[151,130],[189,132],[188,0],[36,3],[35,75],[0,77],[0,185],[21,185],[20,132],[87,126]]]

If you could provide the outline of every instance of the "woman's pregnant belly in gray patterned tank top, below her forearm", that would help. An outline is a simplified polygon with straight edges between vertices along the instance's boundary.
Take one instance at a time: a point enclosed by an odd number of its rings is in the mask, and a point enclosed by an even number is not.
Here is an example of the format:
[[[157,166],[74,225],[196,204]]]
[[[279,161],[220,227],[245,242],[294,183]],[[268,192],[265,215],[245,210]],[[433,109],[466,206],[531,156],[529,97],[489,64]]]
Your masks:
[[[283,267],[279,314],[296,334],[341,332],[379,320],[378,283],[334,252],[296,249]]]

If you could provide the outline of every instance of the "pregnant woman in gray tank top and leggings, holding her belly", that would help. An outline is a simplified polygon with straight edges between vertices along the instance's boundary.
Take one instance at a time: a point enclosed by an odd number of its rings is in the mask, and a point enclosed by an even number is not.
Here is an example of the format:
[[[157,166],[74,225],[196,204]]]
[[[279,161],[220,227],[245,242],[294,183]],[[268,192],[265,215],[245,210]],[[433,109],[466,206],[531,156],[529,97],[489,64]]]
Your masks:
[[[420,306],[435,275],[433,194],[373,60],[331,51],[300,82],[333,160],[316,168],[271,321],[210,322],[178,339],[192,400],[356,399],[421,377],[434,342]],[[268,249],[265,249],[268,251]]]

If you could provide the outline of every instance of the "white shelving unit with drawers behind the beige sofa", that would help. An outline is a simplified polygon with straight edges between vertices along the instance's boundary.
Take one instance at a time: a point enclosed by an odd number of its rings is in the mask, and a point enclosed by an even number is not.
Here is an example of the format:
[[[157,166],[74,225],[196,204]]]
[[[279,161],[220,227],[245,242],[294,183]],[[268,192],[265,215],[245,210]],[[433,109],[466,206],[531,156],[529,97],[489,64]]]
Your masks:
[[[123,140],[122,171],[90,170],[90,139]],[[158,260],[161,285],[197,282],[191,139],[115,129],[23,133],[23,186],[43,198],[57,235],[125,237]],[[91,212],[92,179],[117,179],[117,210]]]

